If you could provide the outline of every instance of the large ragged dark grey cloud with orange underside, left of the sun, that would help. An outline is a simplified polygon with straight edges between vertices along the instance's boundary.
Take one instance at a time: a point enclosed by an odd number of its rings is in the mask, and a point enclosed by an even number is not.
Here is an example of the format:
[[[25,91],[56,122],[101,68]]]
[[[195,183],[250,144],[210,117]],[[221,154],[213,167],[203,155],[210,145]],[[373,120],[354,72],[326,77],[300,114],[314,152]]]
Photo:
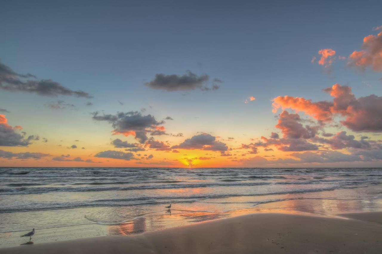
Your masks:
[[[122,134],[125,136],[134,135],[140,143],[145,143],[148,139],[147,133],[151,135],[162,135],[164,127],[159,126],[164,121],[157,121],[152,115],[143,116],[138,111],[130,111],[127,113],[118,113],[117,115],[99,115],[99,112],[94,112],[93,119],[96,121],[107,121],[112,124],[114,134]],[[161,132],[161,133],[158,133]]]

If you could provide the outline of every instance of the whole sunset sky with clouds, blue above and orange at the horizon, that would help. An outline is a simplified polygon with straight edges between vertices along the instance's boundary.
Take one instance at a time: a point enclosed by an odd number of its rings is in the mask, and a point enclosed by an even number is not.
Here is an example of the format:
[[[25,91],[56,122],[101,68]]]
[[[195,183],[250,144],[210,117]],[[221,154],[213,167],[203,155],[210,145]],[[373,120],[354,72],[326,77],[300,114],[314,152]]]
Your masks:
[[[0,166],[381,167],[380,1],[6,1]]]

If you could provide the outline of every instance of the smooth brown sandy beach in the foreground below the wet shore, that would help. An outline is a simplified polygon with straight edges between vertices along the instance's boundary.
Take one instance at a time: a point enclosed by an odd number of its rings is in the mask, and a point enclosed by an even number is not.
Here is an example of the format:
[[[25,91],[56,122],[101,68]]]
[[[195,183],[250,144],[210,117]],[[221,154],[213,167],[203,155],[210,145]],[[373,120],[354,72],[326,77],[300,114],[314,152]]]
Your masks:
[[[151,231],[0,249],[1,253],[381,253],[382,212],[338,218],[249,214]]]

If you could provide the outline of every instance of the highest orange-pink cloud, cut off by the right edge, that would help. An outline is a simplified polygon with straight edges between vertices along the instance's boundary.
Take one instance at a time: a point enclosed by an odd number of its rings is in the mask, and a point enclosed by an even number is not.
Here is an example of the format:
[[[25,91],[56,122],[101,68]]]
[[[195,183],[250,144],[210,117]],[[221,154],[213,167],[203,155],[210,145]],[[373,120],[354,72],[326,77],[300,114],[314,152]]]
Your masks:
[[[376,27],[374,30],[378,30]],[[362,50],[355,50],[349,56],[349,66],[365,70],[371,67],[373,71],[382,71],[382,32],[377,35],[367,35],[363,38]]]

